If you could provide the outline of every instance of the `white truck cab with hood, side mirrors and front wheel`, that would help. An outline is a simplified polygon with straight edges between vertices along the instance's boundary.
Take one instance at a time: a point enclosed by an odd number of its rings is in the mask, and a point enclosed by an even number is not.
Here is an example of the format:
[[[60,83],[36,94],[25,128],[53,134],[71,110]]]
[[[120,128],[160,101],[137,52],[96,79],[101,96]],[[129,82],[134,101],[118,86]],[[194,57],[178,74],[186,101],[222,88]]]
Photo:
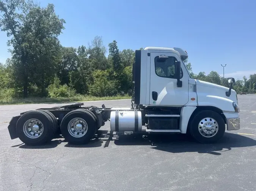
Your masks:
[[[226,124],[228,131],[240,129],[237,94],[232,89],[234,79],[229,79],[230,88],[193,79],[184,64],[187,58],[187,52],[181,48],[147,47],[136,51],[133,65],[135,109],[161,111],[162,116],[151,115],[150,118],[158,121],[154,124],[162,126],[164,121],[171,123],[171,119],[178,118],[178,128],[173,130],[192,133],[200,142],[223,135],[225,127],[219,130],[220,124]],[[173,117],[163,120],[170,111]]]

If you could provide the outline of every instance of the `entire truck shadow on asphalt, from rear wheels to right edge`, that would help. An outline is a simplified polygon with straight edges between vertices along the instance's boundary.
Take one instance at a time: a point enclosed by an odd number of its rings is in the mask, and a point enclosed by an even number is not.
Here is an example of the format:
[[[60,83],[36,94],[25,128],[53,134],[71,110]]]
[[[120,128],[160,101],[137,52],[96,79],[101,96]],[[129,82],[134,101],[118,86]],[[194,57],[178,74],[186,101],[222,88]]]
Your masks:
[[[67,143],[66,140],[59,136],[46,145],[28,146],[15,145],[24,149],[49,149],[55,148],[61,143],[66,143],[65,147],[74,148],[93,148],[108,147],[110,143],[115,145],[148,145],[151,149],[159,151],[180,153],[180,152],[198,152],[213,155],[221,155],[221,152],[230,151],[232,148],[256,146],[256,140],[235,133],[225,132],[223,139],[214,144],[201,144],[195,142],[192,138],[183,134],[146,134],[146,132],[138,132],[133,134],[124,134],[123,132],[113,132],[107,130],[99,130],[93,139],[84,145],[73,145]]]

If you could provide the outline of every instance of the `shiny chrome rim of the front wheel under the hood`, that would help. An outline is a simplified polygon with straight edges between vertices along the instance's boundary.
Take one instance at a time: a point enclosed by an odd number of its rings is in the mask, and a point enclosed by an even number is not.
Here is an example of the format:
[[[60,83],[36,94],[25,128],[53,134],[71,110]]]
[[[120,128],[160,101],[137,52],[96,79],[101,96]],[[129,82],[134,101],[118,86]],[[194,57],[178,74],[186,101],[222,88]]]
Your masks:
[[[198,131],[204,137],[213,137],[217,134],[219,129],[218,123],[211,117],[202,119],[198,124]]]

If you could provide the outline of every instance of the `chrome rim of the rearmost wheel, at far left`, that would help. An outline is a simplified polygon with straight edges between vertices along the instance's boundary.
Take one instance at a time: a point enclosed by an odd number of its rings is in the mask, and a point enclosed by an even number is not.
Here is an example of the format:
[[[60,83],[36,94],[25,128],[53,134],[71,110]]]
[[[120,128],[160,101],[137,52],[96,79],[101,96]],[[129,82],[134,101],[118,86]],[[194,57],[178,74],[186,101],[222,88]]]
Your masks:
[[[23,125],[23,132],[25,136],[30,139],[36,139],[42,135],[44,125],[38,119],[29,119]]]

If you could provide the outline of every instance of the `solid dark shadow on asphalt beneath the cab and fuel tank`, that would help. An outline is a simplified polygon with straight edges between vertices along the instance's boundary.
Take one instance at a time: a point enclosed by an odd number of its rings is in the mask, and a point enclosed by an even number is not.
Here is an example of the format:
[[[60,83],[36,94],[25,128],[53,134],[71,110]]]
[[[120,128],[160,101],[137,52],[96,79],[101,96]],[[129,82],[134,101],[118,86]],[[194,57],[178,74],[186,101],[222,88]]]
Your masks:
[[[151,145],[152,149],[180,153],[198,152],[221,155],[232,148],[255,146],[256,140],[234,133],[225,133],[223,139],[214,144],[201,144],[182,134],[154,134],[149,136],[119,135],[115,145]]]

